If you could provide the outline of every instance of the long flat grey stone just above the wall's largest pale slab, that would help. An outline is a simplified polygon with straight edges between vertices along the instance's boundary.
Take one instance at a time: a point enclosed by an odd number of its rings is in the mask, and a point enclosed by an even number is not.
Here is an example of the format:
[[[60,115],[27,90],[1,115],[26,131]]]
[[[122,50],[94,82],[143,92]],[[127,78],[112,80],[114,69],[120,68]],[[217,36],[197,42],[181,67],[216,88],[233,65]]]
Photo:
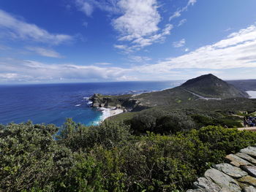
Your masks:
[[[230,164],[217,164],[215,168],[218,169],[220,172],[224,172],[225,174],[234,178],[240,178],[248,175],[242,169],[236,166],[232,166]]]

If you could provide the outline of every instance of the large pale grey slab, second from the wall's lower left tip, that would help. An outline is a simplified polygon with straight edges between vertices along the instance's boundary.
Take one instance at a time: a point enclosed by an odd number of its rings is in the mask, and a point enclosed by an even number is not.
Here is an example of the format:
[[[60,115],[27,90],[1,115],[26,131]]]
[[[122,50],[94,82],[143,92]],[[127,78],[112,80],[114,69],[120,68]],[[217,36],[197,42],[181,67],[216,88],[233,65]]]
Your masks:
[[[238,182],[232,177],[228,176],[223,172],[219,172],[217,169],[208,169],[205,172],[205,177],[213,180],[214,183],[219,185],[220,188],[227,189],[230,192],[240,192],[241,188],[238,185]],[[245,176],[246,177],[246,176]],[[243,178],[243,177],[242,177]]]

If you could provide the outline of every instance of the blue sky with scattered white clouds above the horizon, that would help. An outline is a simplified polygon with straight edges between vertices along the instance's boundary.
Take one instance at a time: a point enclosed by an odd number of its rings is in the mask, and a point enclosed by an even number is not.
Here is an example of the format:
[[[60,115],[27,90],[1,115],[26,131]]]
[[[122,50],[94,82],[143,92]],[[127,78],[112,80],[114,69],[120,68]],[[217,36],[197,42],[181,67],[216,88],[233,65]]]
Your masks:
[[[0,84],[256,79],[255,0],[1,0]]]

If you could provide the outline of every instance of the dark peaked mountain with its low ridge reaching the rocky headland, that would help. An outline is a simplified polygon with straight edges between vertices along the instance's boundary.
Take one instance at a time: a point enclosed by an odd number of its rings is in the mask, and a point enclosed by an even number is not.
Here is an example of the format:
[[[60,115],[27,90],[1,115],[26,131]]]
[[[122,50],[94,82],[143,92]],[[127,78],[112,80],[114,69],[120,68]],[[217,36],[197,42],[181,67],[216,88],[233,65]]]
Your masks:
[[[234,99],[244,101],[248,97],[245,91],[235,88],[213,74],[206,74],[164,91],[122,96],[95,94],[91,97],[91,101],[93,101],[93,107],[121,106],[129,111],[140,111],[158,106],[167,106],[173,109],[198,107],[218,107],[219,109],[225,107],[226,103],[232,106],[237,105]],[[229,100],[227,101],[227,99]]]

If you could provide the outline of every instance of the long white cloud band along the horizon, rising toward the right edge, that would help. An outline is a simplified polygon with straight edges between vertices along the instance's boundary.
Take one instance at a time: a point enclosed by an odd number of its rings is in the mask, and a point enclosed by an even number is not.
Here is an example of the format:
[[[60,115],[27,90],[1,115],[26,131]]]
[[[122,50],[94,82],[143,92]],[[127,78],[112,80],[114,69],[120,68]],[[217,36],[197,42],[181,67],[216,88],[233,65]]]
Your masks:
[[[134,56],[135,60],[149,58]],[[245,70],[249,73],[242,74]],[[228,69],[228,70],[227,70]],[[168,80],[195,77],[214,72],[222,78],[255,78],[256,26],[252,25],[230,34],[212,45],[199,47],[184,55],[167,58],[157,64],[142,64],[127,69],[75,64],[43,64],[37,61],[20,61],[0,58],[0,82],[18,81],[115,81],[115,80]]]

